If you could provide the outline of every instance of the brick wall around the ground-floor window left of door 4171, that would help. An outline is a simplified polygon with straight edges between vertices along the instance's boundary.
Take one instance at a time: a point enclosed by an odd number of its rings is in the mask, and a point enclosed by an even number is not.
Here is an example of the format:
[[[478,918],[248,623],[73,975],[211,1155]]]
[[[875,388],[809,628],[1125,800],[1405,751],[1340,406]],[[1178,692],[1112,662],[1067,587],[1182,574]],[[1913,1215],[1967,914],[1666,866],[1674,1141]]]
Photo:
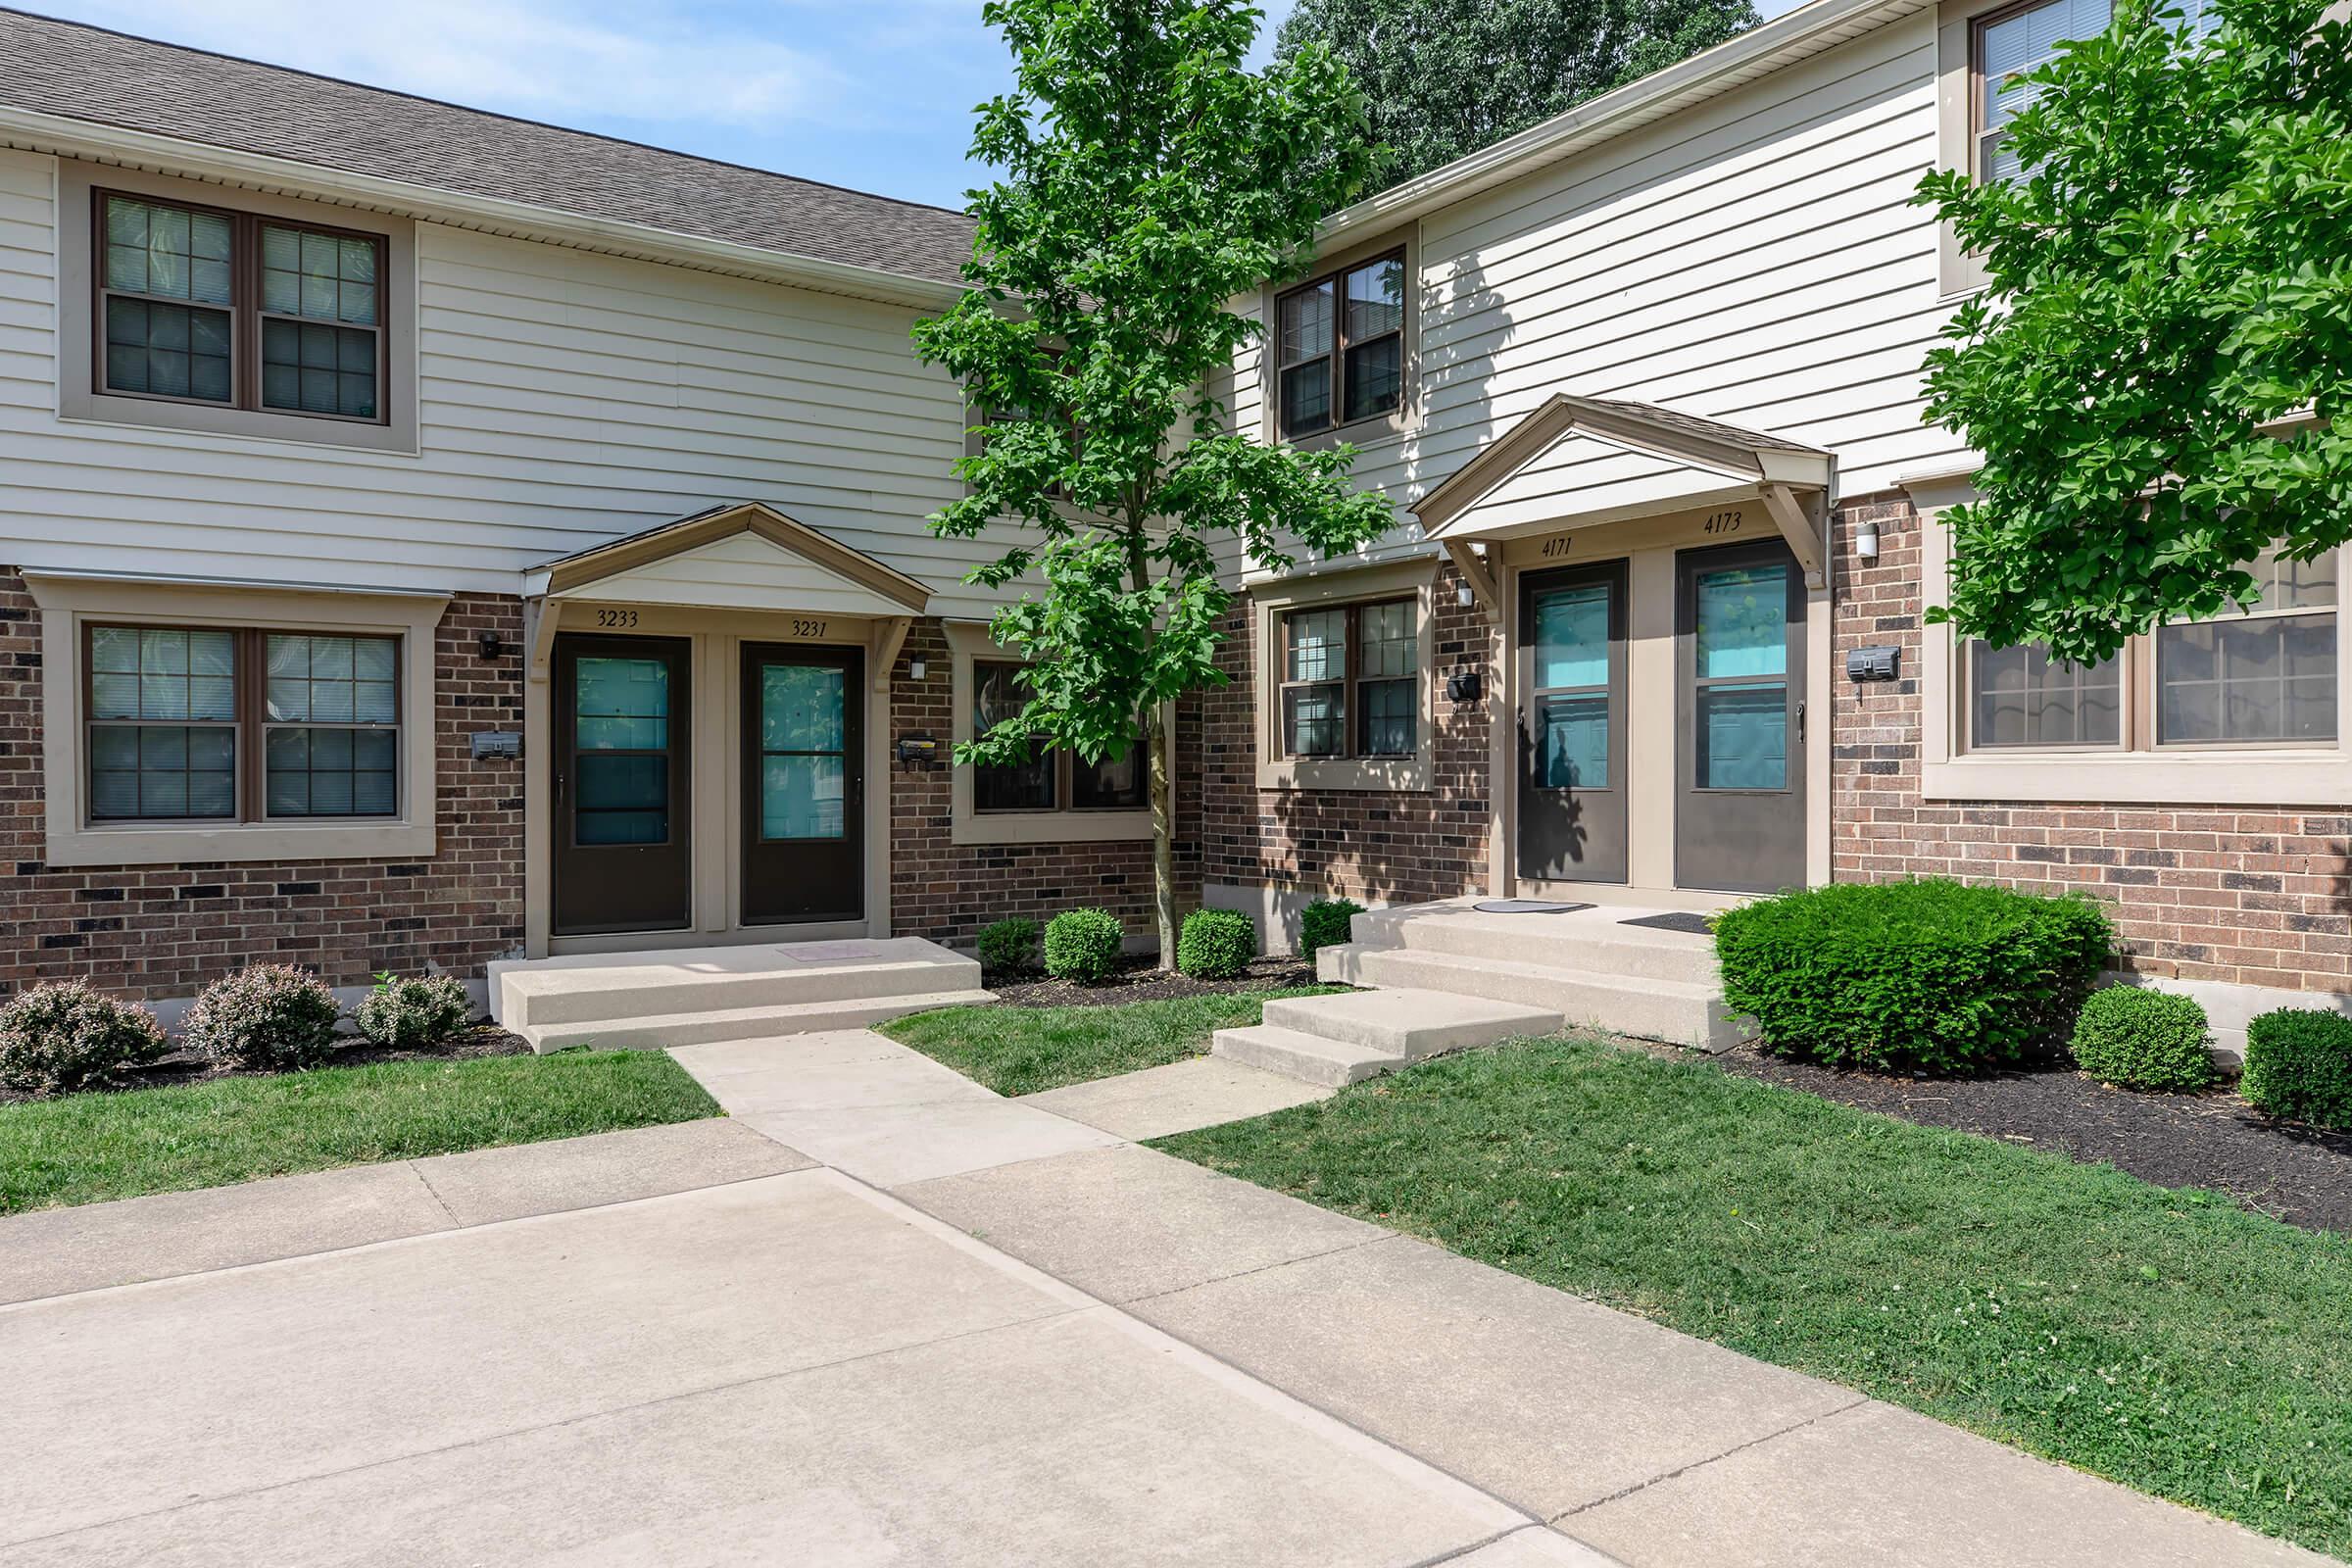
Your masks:
[[[1378,790],[1261,790],[1256,722],[1256,625],[1249,602],[1225,625],[1218,665],[1230,686],[1202,703],[1200,762],[1202,879],[1211,884],[1275,886],[1308,896],[1350,896],[1367,903],[1456,898],[1486,884],[1489,719],[1494,698],[1456,708],[1444,677],[1477,668],[1489,677],[1501,635],[1479,607],[1456,599],[1461,578],[1444,567],[1437,578],[1437,668],[1432,682],[1437,743],[1430,792]]]

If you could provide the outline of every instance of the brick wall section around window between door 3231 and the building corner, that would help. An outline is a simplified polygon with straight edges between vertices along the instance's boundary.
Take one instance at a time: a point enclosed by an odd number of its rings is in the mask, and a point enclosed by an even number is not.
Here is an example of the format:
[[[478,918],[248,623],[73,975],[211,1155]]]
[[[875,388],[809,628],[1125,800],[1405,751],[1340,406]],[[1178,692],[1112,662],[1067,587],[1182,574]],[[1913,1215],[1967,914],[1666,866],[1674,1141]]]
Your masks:
[[[906,677],[906,661],[922,658],[927,679]],[[1120,844],[955,844],[950,837],[948,741],[955,733],[948,639],[938,621],[908,632],[891,679],[891,757],[898,736],[927,733],[941,745],[941,766],[903,771],[891,762],[891,929],[936,943],[971,936],[1014,914],[1051,919],[1063,910],[1098,905],[1127,922],[1131,938],[1152,936],[1150,839]],[[1200,820],[1197,715],[1176,715],[1176,905],[1200,903],[1200,849],[1185,835]],[[877,780],[882,783],[882,780]]]

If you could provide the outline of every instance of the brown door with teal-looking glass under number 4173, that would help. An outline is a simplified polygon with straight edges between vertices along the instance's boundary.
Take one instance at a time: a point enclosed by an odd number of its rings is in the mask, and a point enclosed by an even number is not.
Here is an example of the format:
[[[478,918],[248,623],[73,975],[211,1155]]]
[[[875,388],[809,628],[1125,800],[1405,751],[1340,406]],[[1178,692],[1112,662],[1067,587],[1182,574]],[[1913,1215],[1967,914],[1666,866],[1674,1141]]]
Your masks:
[[[1788,545],[1677,557],[1675,886],[1804,886],[1804,576]]]

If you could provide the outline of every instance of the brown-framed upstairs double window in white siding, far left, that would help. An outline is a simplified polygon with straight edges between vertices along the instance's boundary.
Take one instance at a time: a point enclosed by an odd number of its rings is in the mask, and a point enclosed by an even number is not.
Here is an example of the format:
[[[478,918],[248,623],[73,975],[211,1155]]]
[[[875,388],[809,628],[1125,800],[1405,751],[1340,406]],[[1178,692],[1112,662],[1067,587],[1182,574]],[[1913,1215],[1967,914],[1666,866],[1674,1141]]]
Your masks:
[[[386,421],[383,235],[115,190],[92,209],[96,393]]]

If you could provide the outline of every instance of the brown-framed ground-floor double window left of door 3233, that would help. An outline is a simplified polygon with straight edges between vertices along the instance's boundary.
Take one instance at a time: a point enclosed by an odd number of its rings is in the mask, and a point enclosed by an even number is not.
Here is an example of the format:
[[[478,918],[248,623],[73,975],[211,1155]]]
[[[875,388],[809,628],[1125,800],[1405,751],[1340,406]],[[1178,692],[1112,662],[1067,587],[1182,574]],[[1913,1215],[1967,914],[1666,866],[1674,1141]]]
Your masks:
[[[400,639],[87,625],[92,823],[285,823],[400,811]]]

